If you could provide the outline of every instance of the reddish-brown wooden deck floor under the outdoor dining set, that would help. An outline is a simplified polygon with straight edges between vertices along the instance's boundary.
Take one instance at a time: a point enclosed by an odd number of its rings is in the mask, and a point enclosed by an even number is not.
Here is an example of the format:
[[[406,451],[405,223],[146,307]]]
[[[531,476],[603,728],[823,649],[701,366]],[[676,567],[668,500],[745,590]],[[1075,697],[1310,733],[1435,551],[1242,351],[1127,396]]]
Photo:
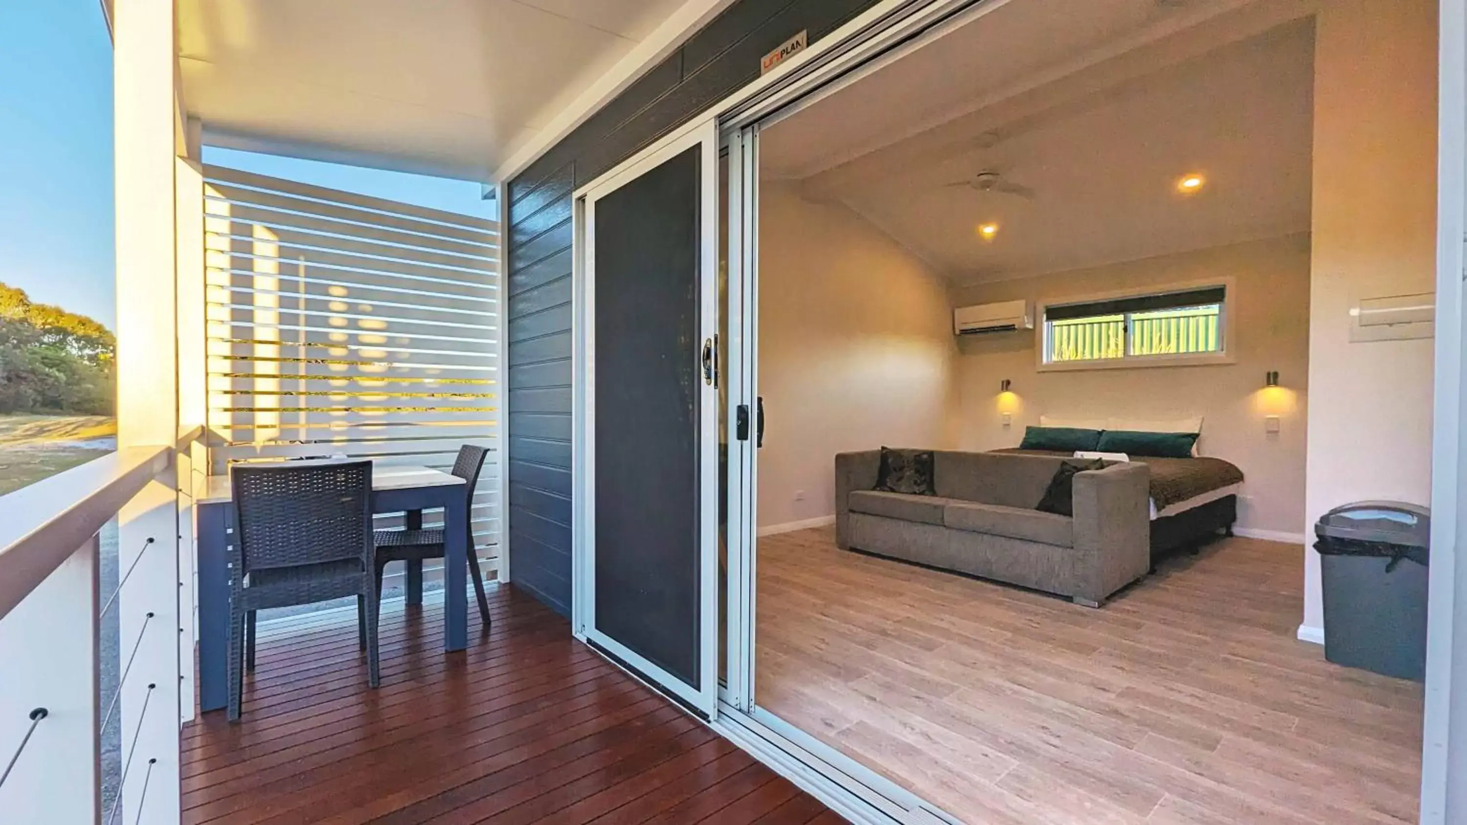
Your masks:
[[[490,607],[443,655],[439,605],[387,602],[378,690],[355,611],[263,624],[242,722],[183,730],[183,822],[842,822],[530,596]]]

